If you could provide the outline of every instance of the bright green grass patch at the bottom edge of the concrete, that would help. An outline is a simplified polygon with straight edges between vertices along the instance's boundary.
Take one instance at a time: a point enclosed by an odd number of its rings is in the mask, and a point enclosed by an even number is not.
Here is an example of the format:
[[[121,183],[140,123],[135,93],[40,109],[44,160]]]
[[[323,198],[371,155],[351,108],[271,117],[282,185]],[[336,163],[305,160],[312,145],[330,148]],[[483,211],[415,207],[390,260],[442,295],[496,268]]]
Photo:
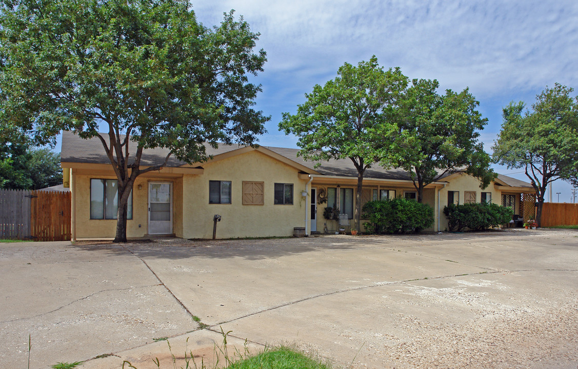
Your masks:
[[[327,364],[320,360],[314,360],[302,353],[293,351],[290,348],[281,346],[280,348],[265,351],[256,356],[235,361],[227,369],[329,369]]]

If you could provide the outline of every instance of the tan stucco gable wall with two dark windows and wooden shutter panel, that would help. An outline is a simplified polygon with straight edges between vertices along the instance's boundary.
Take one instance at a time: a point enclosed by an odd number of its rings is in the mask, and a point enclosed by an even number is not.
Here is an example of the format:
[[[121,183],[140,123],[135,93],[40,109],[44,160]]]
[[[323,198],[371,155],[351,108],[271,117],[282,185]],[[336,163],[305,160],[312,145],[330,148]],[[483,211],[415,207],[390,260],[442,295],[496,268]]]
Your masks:
[[[213,215],[217,238],[291,236],[305,226],[305,180],[298,170],[258,151],[203,165],[202,176],[183,177],[183,237],[212,238]],[[231,204],[209,204],[209,181],[231,181]],[[264,204],[243,205],[243,181],[264,182]],[[293,204],[273,203],[275,183],[293,184]]]

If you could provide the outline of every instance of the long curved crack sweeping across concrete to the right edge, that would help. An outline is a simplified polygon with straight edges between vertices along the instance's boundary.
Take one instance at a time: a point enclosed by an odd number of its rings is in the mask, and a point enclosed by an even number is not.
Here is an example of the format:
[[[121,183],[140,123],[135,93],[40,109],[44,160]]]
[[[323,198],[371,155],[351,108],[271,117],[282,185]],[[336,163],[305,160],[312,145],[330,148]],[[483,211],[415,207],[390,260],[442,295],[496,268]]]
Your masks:
[[[238,318],[235,318],[235,319],[225,320],[224,322],[220,322],[220,323],[211,325],[210,327],[220,326],[220,325],[223,325],[223,324],[235,322],[236,320],[248,318],[249,316],[261,314],[261,313],[263,313],[263,312],[273,311],[273,310],[277,310],[277,309],[282,308],[282,307],[286,307],[286,306],[290,306],[290,305],[302,303],[303,301],[308,301],[308,300],[317,299],[318,297],[325,297],[325,296],[337,295],[338,293],[343,293],[343,292],[351,292],[351,291],[356,291],[356,290],[368,289],[368,288],[373,288],[373,287],[381,287],[381,286],[387,286],[387,285],[406,284],[407,282],[414,282],[414,281],[431,281],[431,280],[433,280],[433,279],[446,279],[446,278],[455,278],[455,277],[465,277],[465,276],[468,276],[468,275],[495,274],[495,273],[518,273],[518,272],[524,272],[524,271],[578,271],[578,270],[576,270],[576,269],[492,270],[492,271],[486,271],[486,272],[482,272],[482,273],[477,272],[477,273],[464,273],[464,274],[454,274],[454,275],[442,275],[442,276],[440,276],[440,277],[424,277],[424,278],[417,278],[417,279],[405,279],[405,280],[403,280],[403,281],[395,281],[395,282],[375,282],[375,283],[372,284],[372,285],[366,285],[366,286],[358,286],[358,287],[340,289],[340,290],[336,290],[336,291],[333,291],[333,292],[325,292],[325,293],[320,293],[320,294],[318,294],[318,295],[305,297],[305,298],[303,298],[303,299],[294,300],[294,301],[291,301],[291,302],[288,302],[288,303],[276,305],[276,306],[273,306],[273,307],[271,307],[271,308],[267,308],[267,309],[264,309],[264,310],[261,310],[261,311],[252,312],[251,314],[239,316]]]

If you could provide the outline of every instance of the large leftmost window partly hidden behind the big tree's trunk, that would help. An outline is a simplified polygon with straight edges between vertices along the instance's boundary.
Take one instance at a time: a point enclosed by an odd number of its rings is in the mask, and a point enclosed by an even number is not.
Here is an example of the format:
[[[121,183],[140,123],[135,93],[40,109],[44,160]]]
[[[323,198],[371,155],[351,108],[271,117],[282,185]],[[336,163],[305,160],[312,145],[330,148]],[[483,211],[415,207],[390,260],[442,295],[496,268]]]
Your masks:
[[[118,181],[90,180],[90,219],[117,219]],[[127,219],[132,219],[132,191],[128,195]]]

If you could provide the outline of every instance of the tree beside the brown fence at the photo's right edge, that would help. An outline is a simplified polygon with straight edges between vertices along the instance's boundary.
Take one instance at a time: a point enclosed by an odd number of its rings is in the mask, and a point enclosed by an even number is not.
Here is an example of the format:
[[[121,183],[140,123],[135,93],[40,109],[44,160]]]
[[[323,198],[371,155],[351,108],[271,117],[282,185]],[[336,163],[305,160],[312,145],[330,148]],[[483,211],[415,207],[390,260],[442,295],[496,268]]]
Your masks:
[[[524,169],[536,192],[538,225],[548,184],[561,179],[578,185],[578,98],[572,91],[558,83],[546,87],[525,112],[523,102],[510,103],[492,147],[495,162]]]

